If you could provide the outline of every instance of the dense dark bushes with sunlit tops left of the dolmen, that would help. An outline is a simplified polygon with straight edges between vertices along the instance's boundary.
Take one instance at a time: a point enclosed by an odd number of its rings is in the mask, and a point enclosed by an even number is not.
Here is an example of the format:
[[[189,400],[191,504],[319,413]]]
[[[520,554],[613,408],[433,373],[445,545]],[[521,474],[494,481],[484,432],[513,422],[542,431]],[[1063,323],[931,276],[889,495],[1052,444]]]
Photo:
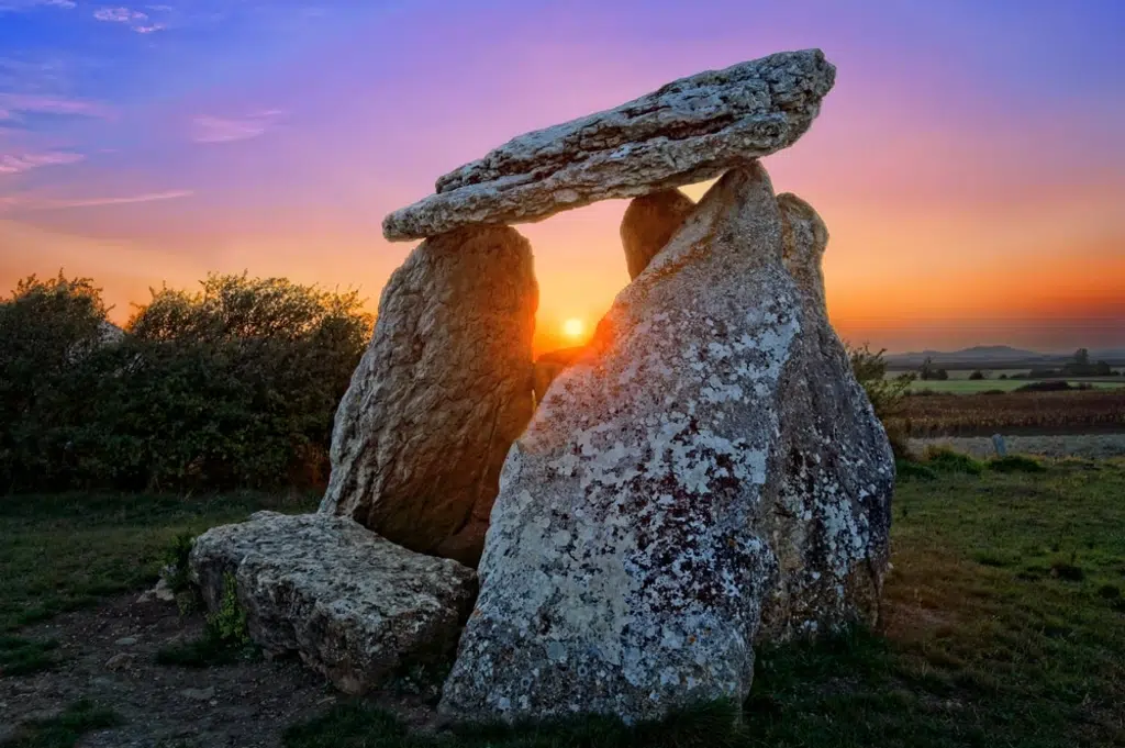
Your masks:
[[[89,279],[0,298],[0,492],[308,485],[370,335],[354,291],[209,276],[120,330]]]

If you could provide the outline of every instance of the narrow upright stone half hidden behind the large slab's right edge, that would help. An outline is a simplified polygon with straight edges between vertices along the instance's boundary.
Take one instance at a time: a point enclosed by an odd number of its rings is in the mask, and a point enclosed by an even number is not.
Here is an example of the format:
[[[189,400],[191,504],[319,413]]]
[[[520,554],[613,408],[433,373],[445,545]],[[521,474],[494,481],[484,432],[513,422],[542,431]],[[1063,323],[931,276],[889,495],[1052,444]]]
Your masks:
[[[783,479],[758,521],[778,566],[758,631],[768,641],[879,621],[894,490],[886,433],[828,322],[828,229],[801,198],[777,202],[801,335],[780,390],[788,418],[774,451]]]

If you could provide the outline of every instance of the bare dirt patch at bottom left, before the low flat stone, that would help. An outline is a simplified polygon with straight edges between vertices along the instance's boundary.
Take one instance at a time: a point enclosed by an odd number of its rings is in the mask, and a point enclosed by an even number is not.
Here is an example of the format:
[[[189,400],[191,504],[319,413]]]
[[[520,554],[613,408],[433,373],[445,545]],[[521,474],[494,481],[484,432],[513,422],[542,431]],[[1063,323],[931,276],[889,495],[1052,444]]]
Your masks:
[[[80,699],[124,718],[84,736],[82,748],[279,747],[289,724],[328,709],[338,696],[292,660],[191,669],[158,665],[158,650],[198,638],[201,615],[130,594],[60,615],[20,636],[58,642],[57,667],[0,678],[0,733],[50,719]]]

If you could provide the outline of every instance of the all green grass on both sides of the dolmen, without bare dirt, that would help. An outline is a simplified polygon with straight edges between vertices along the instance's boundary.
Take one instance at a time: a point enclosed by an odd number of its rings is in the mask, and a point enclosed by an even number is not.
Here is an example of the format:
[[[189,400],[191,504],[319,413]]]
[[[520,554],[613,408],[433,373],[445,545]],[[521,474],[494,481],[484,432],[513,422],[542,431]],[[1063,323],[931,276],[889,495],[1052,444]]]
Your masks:
[[[914,471],[927,478],[900,480],[885,631],[760,651],[738,732],[726,727],[730,705],[713,705],[632,729],[579,720],[416,735],[390,712],[349,702],[290,727],[285,744],[1125,746],[1125,461],[1062,461],[1036,472],[1023,471],[1035,466],[1022,461],[998,467],[1014,471],[943,458]],[[0,499],[2,620],[11,631],[147,583],[162,547],[181,531],[256,508],[312,505],[262,496]]]

